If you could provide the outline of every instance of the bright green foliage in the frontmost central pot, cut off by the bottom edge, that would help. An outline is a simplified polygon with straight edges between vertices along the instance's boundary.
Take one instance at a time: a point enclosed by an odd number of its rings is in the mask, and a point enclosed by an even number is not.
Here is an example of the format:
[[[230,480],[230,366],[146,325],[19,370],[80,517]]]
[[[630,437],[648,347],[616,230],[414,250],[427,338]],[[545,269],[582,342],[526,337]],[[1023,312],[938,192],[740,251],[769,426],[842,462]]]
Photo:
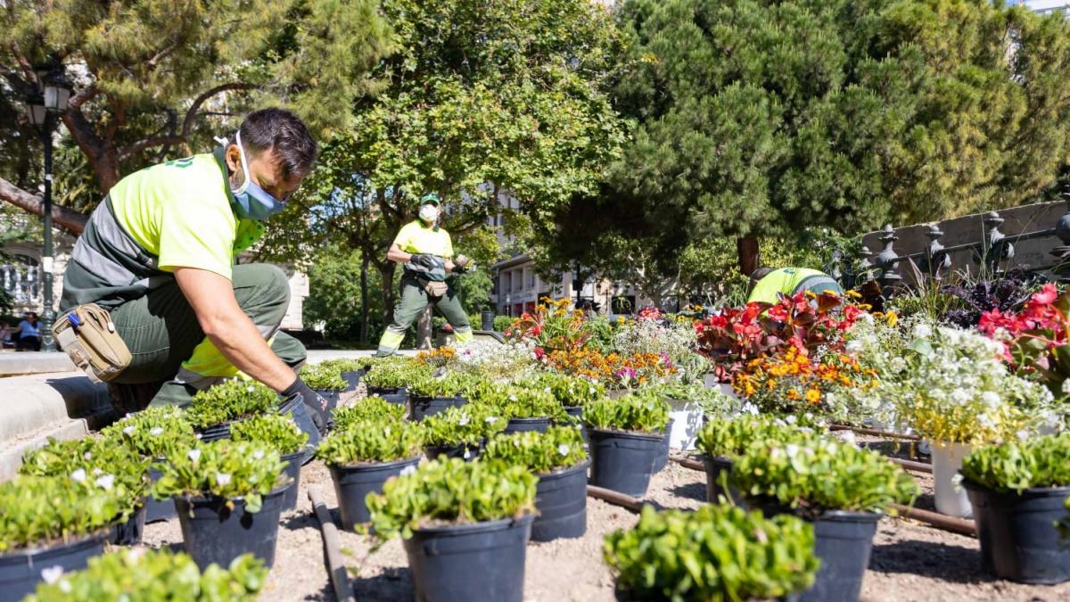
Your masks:
[[[391,479],[369,494],[371,527],[388,540],[430,522],[458,524],[515,518],[535,511],[537,479],[522,466],[501,462],[434,460],[411,475]]]

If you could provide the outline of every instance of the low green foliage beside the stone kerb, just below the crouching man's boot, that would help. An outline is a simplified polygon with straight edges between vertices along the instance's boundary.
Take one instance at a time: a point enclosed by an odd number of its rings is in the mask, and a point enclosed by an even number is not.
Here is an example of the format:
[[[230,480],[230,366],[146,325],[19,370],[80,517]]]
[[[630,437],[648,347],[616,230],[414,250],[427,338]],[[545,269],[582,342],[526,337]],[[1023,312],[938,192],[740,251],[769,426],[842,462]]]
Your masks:
[[[150,460],[185,453],[197,442],[186,412],[173,406],[149,407],[128,413],[103,428],[101,435]]]

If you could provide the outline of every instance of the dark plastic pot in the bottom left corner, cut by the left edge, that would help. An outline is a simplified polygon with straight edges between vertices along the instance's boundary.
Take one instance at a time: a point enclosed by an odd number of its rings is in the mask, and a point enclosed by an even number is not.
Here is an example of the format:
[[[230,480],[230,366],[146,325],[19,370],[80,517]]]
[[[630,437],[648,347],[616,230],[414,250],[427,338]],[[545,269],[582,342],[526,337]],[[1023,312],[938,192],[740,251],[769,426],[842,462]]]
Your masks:
[[[71,543],[0,554],[0,600],[21,600],[33,593],[44,581],[43,569],[60,567],[64,573],[85,569],[90,558],[104,554],[104,542],[111,533],[105,529]]]

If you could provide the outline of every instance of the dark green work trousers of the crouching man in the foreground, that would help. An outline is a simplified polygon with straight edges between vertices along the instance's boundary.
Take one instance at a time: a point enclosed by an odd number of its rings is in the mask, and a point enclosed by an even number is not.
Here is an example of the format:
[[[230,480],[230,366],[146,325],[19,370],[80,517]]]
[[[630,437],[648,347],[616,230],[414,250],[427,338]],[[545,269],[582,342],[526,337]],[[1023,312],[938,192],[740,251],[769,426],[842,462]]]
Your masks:
[[[305,361],[304,345],[277,332],[290,303],[290,287],[282,270],[268,264],[234,266],[231,282],[239,306],[271,341],[275,355],[290,366],[300,367]],[[120,411],[143,409],[149,400],[152,405],[185,405],[198,390],[221,379],[189,370],[195,349],[204,355],[207,338],[173,279],[113,308],[111,320],[132,356],[129,367],[110,387]],[[208,349],[209,356],[213,349]]]

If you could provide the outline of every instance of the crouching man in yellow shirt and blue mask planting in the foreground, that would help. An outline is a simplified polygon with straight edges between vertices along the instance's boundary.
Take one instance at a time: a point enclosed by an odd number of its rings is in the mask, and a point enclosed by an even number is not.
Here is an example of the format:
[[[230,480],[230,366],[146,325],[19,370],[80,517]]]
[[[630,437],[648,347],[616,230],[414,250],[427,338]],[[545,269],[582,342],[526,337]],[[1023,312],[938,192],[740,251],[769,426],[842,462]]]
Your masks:
[[[282,395],[280,408],[319,440],[326,403],[295,372],[304,346],[278,332],[287,276],[271,265],[234,265],[317,154],[297,117],[270,108],[246,116],[215,152],[148,167],[111,187],[75,244],[60,320],[75,328],[66,313],[87,303],[110,312],[131,357],[108,379],[117,409],[140,410],[150,400],[184,405],[241,376]]]

